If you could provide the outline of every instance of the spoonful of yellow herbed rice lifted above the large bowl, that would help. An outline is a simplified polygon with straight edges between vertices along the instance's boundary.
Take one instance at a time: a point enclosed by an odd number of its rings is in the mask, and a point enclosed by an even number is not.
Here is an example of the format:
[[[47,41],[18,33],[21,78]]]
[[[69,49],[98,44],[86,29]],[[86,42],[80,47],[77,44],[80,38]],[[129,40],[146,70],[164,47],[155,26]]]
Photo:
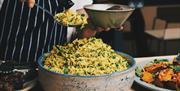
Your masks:
[[[54,19],[64,26],[81,26],[83,28],[87,24],[87,16],[72,10],[57,13]]]

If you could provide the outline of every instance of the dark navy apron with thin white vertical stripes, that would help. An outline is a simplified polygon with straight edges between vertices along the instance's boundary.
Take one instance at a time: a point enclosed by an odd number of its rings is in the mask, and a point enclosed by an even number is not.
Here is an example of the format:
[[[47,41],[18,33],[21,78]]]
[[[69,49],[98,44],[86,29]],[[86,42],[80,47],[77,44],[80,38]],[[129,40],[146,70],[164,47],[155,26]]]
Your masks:
[[[62,0],[36,0],[52,14],[63,11]],[[4,0],[0,11],[0,59],[33,63],[53,45],[66,42],[66,27],[39,7]]]

